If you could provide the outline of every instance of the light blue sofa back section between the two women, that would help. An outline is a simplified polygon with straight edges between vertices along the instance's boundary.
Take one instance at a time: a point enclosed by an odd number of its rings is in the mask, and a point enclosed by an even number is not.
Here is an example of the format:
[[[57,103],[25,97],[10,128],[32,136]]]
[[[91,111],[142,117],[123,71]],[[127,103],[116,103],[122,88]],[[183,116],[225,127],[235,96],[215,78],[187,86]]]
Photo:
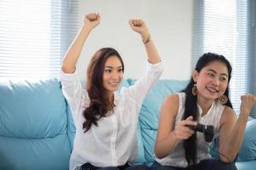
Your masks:
[[[129,80],[134,84],[136,80]],[[154,161],[154,141],[156,138],[160,107],[167,95],[177,93],[185,88],[188,81],[178,80],[160,80],[154,84],[147,97],[143,101],[142,109],[139,116],[139,123],[143,137],[145,163],[150,164]]]

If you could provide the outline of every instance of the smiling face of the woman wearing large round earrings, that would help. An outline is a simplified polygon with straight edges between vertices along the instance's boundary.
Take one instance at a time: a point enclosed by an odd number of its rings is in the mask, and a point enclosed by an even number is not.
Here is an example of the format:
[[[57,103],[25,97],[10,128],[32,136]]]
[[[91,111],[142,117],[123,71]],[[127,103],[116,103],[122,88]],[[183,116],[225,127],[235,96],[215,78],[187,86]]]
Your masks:
[[[212,61],[201,69],[193,72],[196,82],[197,97],[207,100],[218,99],[228,87],[229,73],[227,66],[219,61]]]

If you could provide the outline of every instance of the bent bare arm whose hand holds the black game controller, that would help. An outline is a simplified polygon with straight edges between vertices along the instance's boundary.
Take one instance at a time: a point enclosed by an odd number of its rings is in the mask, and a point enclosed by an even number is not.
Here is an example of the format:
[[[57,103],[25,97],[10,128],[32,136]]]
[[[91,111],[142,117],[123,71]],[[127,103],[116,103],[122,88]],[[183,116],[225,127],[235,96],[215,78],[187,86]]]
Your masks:
[[[174,127],[178,104],[178,95],[174,94],[168,96],[161,108],[160,122],[154,146],[155,156],[160,159],[168,156],[180,140],[188,139],[195,133],[192,129],[186,127],[186,125],[196,125],[196,122],[192,121],[192,116],[177,122],[176,127]]]

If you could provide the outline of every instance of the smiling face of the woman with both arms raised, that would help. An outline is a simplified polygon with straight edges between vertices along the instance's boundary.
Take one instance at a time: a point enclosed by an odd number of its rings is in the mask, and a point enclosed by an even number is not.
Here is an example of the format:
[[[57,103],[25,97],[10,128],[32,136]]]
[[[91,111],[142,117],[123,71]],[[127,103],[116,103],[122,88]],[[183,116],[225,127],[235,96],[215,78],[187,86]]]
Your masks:
[[[123,79],[123,66],[116,55],[108,57],[104,65],[103,87],[111,94],[118,90]]]

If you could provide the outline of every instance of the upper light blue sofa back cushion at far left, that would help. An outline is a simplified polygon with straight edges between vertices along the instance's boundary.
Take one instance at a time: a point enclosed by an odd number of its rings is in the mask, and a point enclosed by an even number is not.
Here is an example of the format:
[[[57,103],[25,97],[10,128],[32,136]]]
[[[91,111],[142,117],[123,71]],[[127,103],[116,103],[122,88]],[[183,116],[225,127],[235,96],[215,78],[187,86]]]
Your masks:
[[[46,138],[66,132],[66,103],[57,80],[0,82],[0,135]]]

